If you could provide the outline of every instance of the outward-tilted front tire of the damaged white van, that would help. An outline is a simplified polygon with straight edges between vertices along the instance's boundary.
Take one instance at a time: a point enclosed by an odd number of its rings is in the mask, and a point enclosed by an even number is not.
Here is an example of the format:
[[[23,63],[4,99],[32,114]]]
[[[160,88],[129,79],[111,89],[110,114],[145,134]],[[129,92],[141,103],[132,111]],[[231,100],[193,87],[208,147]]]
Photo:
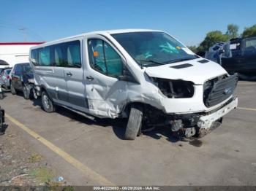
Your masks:
[[[125,131],[124,138],[127,140],[135,140],[140,131],[143,119],[142,106],[133,105],[129,112],[129,120],[127,123],[127,130]]]

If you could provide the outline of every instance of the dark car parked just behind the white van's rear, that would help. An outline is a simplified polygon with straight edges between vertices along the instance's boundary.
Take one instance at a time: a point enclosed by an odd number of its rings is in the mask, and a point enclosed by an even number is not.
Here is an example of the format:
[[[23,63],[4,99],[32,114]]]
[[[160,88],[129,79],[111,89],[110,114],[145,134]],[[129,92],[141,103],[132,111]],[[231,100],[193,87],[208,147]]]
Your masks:
[[[31,90],[29,86],[29,79],[34,79],[34,74],[29,63],[15,64],[10,74],[10,87],[12,94],[17,91],[23,92],[26,99],[31,97]]]

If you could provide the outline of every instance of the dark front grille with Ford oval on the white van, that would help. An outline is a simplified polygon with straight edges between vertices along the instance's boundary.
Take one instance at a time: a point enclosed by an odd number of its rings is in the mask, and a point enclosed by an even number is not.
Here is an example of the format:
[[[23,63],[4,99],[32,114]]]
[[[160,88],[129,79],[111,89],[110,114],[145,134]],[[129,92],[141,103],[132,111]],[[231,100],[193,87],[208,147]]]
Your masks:
[[[203,102],[207,107],[215,106],[233,94],[238,82],[238,75],[217,77],[203,85]]]

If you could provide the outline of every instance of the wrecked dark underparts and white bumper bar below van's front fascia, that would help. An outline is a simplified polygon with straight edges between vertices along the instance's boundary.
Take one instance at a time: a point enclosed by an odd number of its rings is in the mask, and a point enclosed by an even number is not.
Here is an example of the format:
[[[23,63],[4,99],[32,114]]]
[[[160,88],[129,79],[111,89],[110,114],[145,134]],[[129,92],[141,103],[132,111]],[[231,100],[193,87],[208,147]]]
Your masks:
[[[225,104],[210,112],[191,114],[165,114],[151,106],[144,108],[144,124],[148,128],[166,126],[173,136],[191,140],[201,138],[222,124],[222,117],[238,106],[238,98],[230,98]],[[162,121],[160,123],[159,121]]]

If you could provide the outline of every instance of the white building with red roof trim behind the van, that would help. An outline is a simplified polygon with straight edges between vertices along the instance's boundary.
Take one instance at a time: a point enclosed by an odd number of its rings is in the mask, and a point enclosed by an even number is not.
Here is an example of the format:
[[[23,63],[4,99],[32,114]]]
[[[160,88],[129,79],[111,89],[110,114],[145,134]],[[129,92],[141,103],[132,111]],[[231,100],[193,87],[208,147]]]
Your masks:
[[[0,42],[0,69],[29,62],[29,49],[44,42]]]

